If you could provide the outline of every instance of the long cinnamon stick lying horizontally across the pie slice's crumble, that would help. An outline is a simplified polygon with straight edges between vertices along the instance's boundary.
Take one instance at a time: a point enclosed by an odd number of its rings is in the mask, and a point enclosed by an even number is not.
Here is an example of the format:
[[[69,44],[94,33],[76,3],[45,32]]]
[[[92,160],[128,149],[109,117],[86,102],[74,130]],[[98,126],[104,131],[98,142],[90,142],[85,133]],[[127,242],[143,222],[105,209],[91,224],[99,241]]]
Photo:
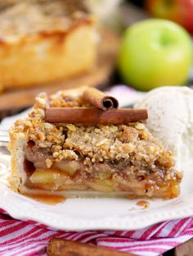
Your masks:
[[[45,121],[50,123],[122,125],[147,119],[146,109],[119,108],[102,111],[96,107],[48,107]]]

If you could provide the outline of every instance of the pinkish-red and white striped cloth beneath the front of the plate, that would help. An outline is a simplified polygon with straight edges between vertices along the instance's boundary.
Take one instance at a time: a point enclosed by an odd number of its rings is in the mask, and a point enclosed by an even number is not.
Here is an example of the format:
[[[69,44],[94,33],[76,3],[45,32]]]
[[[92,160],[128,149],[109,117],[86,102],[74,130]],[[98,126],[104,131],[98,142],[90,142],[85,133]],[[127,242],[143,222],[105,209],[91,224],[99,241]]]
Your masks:
[[[77,240],[137,255],[155,256],[193,237],[193,217],[161,222],[139,231],[52,231],[37,222],[12,219],[0,210],[0,256],[46,255],[52,237]]]

